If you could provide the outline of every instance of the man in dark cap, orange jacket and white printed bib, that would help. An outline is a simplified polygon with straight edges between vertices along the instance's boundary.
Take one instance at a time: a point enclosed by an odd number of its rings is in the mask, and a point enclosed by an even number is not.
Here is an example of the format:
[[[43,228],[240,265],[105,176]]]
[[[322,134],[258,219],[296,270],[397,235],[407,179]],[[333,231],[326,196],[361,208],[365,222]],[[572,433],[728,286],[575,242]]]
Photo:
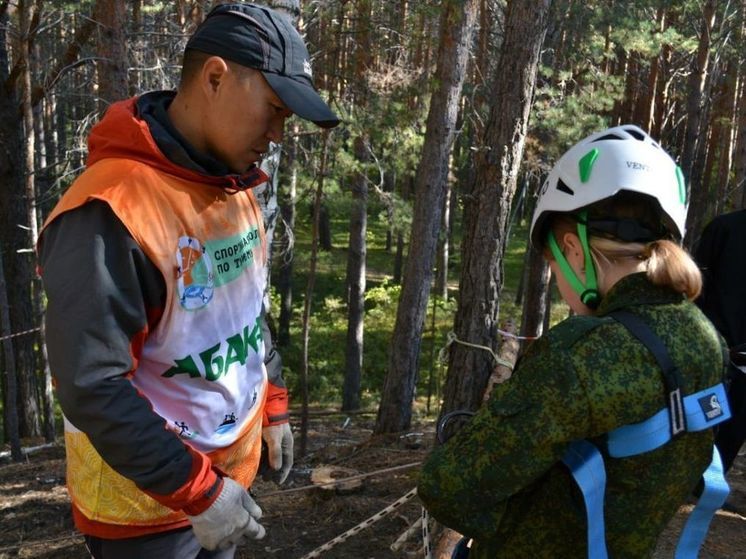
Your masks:
[[[286,118],[339,120],[290,23],[212,10],[177,92],[115,103],[39,239],[68,490],[96,558],[232,557],[259,539],[262,439],[292,466],[287,389],[262,315],[251,188]]]

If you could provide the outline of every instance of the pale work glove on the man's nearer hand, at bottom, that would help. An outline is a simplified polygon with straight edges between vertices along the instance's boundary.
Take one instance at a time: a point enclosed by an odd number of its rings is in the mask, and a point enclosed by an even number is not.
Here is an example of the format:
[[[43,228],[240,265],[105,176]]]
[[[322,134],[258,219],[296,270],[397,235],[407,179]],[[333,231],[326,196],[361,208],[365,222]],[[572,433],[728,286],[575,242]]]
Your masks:
[[[264,526],[257,520],[262,509],[249,492],[231,478],[223,478],[220,495],[205,512],[189,516],[194,535],[205,549],[228,549],[244,538],[261,540]]]

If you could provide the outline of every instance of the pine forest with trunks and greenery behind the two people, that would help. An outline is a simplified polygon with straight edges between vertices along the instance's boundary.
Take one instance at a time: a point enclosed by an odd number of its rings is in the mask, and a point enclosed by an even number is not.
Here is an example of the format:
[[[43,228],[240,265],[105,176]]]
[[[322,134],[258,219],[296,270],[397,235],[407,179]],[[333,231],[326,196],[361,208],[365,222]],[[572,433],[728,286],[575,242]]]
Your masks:
[[[39,228],[84,168],[91,126],[116,100],[175,87],[216,3],[0,1],[2,441],[15,459],[60,432]],[[746,0],[264,4],[301,29],[343,118],[332,131],[292,119],[261,193],[301,453],[315,406],[372,410],[377,433],[474,409],[503,325],[534,337],[566,315],[527,220],[584,135],[633,123],[660,141],[687,178],[690,248],[746,204]]]

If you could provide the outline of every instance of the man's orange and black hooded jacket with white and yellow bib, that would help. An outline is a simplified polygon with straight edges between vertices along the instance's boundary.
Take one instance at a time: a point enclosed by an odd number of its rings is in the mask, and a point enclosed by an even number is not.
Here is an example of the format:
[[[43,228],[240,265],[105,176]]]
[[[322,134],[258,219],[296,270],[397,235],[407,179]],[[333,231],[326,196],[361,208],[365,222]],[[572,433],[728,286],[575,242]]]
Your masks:
[[[251,187],[267,177],[196,154],[165,116],[171,97],[107,111],[39,241],[68,490],[99,537],[186,526],[223,475],[251,485],[262,425],[287,421],[265,366]]]

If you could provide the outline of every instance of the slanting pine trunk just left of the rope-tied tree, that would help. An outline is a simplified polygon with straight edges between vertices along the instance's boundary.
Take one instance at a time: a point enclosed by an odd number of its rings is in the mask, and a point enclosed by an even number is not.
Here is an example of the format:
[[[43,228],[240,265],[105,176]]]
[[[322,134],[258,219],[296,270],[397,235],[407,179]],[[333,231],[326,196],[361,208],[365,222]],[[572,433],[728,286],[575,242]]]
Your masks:
[[[425,144],[415,175],[409,256],[378,410],[377,433],[402,431],[411,423],[422,330],[447,191],[449,154],[456,133],[477,1],[446,0],[442,10],[436,70],[438,88],[430,101]]]

